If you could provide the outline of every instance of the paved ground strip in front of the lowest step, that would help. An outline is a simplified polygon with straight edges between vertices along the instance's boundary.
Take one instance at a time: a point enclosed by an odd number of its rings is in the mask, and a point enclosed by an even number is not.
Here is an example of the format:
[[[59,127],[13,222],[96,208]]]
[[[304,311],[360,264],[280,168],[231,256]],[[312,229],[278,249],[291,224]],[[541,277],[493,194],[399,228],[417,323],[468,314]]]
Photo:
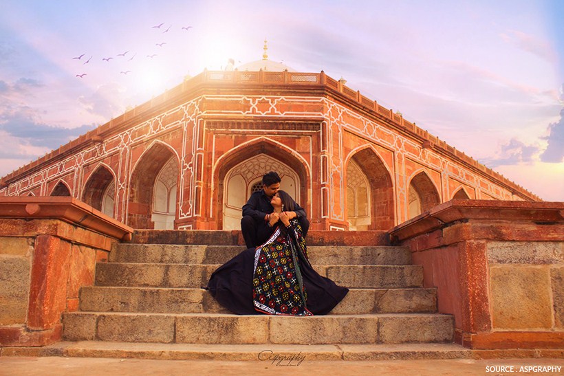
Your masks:
[[[513,367],[513,368],[510,368]],[[526,371],[521,367],[528,368]],[[541,367],[561,367],[546,371]],[[523,372],[525,371],[525,372]],[[564,375],[563,359],[219,362],[80,357],[0,357],[0,375]]]

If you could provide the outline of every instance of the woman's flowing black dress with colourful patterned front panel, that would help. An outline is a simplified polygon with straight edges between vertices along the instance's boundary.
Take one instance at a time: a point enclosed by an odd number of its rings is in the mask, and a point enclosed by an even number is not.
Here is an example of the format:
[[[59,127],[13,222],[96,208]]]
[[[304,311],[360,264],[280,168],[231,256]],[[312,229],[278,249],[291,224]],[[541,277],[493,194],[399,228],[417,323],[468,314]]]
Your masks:
[[[313,269],[296,219],[288,228],[279,222],[263,245],[221,265],[206,289],[239,315],[289,316],[325,315],[349,291]]]

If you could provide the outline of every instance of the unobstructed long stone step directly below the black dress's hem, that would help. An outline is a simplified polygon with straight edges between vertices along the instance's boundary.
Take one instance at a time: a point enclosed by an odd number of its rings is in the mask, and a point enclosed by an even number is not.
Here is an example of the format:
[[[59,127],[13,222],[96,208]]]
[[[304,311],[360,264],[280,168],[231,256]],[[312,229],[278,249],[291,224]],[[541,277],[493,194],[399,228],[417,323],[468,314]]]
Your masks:
[[[193,344],[452,342],[453,317],[437,313],[291,317],[71,312],[63,313],[63,338]]]

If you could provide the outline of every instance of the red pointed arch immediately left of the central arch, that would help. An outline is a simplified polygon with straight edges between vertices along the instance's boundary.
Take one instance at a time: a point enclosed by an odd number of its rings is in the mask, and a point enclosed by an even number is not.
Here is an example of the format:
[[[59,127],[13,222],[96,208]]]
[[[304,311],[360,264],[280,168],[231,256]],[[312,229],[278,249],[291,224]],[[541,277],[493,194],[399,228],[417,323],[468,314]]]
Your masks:
[[[176,151],[164,142],[155,141],[135,163],[129,179],[129,201],[127,205],[127,224],[131,227],[154,228],[151,216],[155,184],[160,171],[171,158],[179,166]],[[175,197],[176,206],[177,201],[177,197]]]

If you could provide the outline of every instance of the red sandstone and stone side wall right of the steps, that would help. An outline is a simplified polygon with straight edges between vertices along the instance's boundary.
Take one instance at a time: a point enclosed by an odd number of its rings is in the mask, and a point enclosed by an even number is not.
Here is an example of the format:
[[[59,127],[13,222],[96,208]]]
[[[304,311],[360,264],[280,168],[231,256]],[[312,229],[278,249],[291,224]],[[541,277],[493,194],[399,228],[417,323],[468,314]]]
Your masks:
[[[456,341],[473,349],[561,348],[564,203],[452,200],[389,233],[424,266]]]

